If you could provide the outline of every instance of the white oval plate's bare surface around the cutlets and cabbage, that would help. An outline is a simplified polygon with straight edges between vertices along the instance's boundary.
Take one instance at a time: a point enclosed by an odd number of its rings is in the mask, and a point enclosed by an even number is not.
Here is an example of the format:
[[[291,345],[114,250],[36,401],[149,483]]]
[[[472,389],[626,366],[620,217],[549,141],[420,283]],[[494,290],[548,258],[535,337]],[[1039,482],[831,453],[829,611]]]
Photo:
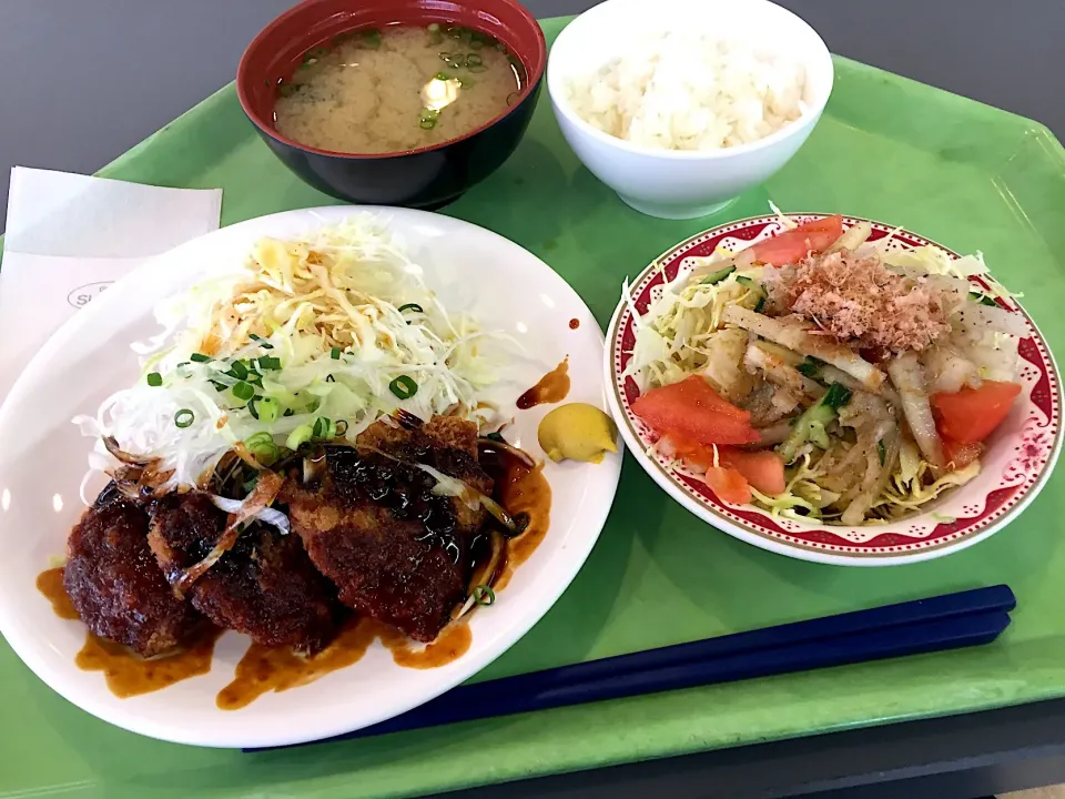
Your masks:
[[[44,682],[93,716],[153,738],[211,747],[282,746],[359,729],[443,694],[499,657],[555,604],[591,552],[617,490],[620,454],[598,465],[547,462],[549,532],[496,604],[474,614],[470,649],[447,666],[400,668],[376,644],[358,664],[317,682],[223,711],[215,696],[247,647],[247,638],[234,633],[219,643],[210,674],[131,699],[114,697],[101,672],[74,665],[84,627],[58,618],[34,586],[49,558],[65,552],[82,510],[79,483],[92,442],[70,419],[94,413],[110,393],[136,380],[130,344],[159,332],[152,313],[159,301],[242,263],[260,236],[298,235],[361,210],[390,220],[449,310],[468,311],[524,345],[511,402],[568,356],[567,401],[604,406],[604,338],[591,312],[542,261],[467,222],[404,209],[292,211],[224,227],[144,264],[55,333],[0,409],[0,631]],[[577,330],[570,328],[574,318]],[[508,439],[542,458],[536,428],[549,408],[516,411]]]

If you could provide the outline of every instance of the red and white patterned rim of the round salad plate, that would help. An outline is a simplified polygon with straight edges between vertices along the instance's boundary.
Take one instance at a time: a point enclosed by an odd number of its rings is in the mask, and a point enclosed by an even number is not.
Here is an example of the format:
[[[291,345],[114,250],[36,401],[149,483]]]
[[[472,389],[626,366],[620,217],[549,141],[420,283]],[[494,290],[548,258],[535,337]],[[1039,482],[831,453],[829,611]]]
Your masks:
[[[824,214],[785,215],[805,221]],[[860,216],[844,216],[843,221],[848,226],[869,222],[873,241],[893,233],[892,246],[931,245],[958,257],[937,242],[893,225]],[[767,215],[738,220],[691,236],[657,257],[632,281],[632,305],[645,312],[651,289],[665,279],[676,277],[686,257],[709,255],[727,239],[736,240],[730,242],[733,244],[750,243],[778,230],[779,219]],[[993,265],[991,271],[994,274]],[[977,287],[987,287],[978,277],[970,280]],[[774,517],[753,506],[727,505],[698,476],[648,453],[651,438],[629,407],[639,391],[631,378],[621,377],[633,340],[632,312],[623,297],[607,331],[608,400],[626,443],[645,471],[684,507],[730,535],[791,557],[822,563],[880,566],[940,557],[991,536],[1012,520],[1043,488],[1061,451],[1062,388],[1053,355],[1024,309],[1015,301],[1006,307],[1022,315],[1031,333],[1020,347],[1024,385],[1021,398],[990,441],[981,474],[902,522],[860,528],[818,526]]]

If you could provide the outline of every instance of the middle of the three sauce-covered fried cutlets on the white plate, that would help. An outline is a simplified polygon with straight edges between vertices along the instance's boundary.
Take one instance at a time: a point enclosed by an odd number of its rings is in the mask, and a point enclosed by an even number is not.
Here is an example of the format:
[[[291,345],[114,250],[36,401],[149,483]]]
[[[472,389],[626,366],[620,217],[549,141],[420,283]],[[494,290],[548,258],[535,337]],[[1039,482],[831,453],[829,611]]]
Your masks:
[[[155,503],[148,540],[171,584],[200,563],[225,529],[226,514],[202,493]],[[192,604],[220,627],[264,646],[315,653],[335,633],[335,595],[294,535],[252,523],[189,588]]]

